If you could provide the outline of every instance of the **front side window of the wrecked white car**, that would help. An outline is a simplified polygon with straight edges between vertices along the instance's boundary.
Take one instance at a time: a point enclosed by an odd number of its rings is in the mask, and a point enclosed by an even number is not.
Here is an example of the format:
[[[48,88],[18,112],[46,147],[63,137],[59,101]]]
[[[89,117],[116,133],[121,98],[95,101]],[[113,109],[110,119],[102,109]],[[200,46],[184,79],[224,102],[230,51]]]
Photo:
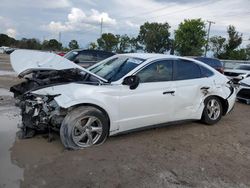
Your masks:
[[[136,74],[141,83],[171,81],[173,78],[172,60],[154,62]]]

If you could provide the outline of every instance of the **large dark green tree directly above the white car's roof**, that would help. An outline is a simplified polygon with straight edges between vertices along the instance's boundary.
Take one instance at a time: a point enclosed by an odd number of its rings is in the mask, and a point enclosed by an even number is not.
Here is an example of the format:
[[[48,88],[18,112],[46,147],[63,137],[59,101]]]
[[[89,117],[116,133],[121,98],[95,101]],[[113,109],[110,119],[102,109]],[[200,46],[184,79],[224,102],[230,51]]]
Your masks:
[[[146,52],[163,53],[170,47],[170,26],[166,23],[146,22],[140,26],[138,42]]]

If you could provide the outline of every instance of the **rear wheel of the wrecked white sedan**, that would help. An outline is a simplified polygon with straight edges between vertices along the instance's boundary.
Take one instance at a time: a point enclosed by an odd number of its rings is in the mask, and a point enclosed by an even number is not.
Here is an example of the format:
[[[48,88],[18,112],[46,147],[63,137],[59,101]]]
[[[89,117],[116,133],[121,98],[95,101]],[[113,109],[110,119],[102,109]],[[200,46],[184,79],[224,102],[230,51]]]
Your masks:
[[[205,99],[202,121],[207,125],[217,123],[222,116],[222,104],[218,97],[212,96]]]

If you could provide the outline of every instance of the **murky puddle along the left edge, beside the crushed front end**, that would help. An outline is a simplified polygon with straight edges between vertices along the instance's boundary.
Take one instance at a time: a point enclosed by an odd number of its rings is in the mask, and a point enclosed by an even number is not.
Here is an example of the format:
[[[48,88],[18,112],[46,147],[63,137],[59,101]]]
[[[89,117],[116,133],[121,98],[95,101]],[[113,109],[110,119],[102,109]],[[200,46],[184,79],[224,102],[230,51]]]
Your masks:
[[[8,94],[8,91],[0,93]],[[20,187],[23,179],[23,169],[19,168],[11,161],[11,148],[15,142],[17,124],[20,121],[17,108],[0,108],[0,187],[15,188]]]

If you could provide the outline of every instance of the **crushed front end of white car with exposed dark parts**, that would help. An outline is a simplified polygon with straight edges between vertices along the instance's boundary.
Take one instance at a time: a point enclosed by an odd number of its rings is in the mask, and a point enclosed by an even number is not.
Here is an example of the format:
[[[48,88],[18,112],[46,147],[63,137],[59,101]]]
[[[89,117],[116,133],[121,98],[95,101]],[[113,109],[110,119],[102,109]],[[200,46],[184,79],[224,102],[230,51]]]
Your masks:
[[[37,132],[58,131],[66,115],[54,98],[58,95],[36,95],[27,93],[19,102],[22,115],[21,138],[33,137]]]

